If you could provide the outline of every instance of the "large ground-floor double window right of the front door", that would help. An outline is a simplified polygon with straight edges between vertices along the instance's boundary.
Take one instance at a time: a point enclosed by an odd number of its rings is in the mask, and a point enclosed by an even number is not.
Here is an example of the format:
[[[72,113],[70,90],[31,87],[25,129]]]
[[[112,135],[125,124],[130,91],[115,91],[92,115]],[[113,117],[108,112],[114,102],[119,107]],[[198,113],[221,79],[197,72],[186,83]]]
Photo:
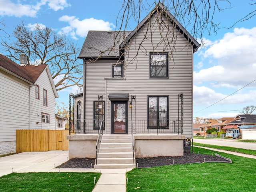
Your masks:
[[[168,128],[168,96],[148,96],[148,128]]]

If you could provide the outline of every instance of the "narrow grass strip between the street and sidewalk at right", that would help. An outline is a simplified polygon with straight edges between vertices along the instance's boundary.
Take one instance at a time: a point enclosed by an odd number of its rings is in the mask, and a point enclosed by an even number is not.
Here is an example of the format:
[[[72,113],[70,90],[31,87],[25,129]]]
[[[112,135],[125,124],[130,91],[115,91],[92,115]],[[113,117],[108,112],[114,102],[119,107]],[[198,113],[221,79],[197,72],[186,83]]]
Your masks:
[[[249,154],[249,155],[256,155],[256,150],[241,149],[241,148],[234,148],[234,147],[227,147],[227,146],[218,146],[218,145],[208,145],[208,144],[202,144],[202,143],[194,143],[194,145],[232,151],[232,152],[238,152],[238,153]]]

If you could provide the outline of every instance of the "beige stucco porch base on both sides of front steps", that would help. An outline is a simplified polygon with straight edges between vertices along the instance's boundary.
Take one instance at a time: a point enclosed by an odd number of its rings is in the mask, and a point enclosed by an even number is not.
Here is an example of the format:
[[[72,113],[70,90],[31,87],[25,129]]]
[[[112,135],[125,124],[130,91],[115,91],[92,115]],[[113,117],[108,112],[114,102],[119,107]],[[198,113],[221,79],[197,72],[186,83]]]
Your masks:
[[[96,158],[97,137],[98,134],[68,135],[69,158]],[[183,156],[184,139],[184,135],[134,135],[135,157]]]

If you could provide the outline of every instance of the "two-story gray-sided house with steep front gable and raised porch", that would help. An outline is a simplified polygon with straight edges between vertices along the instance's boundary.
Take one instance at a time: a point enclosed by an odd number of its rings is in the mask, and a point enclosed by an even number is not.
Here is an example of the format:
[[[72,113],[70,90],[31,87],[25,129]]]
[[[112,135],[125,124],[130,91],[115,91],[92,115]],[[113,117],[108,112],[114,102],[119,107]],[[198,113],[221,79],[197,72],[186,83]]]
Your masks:
[[[68,136],[70,158],[134,166],[125,156],[111,160],[128,139],[133,159],[182,156],[183,140],[193,134],[193,54],[199,46],[161,3],[133,31],[89,31],[79,54],[84,93],[74,103],[74,129],[83,134]],[[105,152],[105,143],[118,149]]]

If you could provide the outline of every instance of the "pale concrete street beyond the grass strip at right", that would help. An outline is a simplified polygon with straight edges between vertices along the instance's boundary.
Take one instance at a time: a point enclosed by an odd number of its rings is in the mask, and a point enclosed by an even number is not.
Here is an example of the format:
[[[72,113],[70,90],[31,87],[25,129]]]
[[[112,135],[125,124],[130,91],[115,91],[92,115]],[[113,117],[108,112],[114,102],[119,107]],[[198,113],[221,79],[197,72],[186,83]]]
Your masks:
[[[239,142],[236,139],[193,139],[194,143],[228,146],[242,149],[256,150],[256,143]]]

